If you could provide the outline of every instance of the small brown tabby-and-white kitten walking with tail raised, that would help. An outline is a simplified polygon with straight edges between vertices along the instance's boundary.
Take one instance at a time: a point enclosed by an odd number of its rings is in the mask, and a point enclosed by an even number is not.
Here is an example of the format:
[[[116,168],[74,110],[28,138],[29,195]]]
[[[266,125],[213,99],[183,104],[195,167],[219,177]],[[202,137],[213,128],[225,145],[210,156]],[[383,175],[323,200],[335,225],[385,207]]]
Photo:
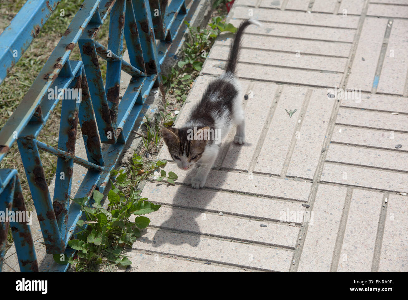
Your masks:
[[[242,110],[242,90],[235,68],[244,30],[260,24],[252,19],[239,25],[226,62],[225,72],[208,84],[200,102],[193,107],[183,127],[162,127],[164,142],[177,166],[189,170],[197,164],[197,174],[191,181],[195,189],[204,187],[208,173],[217,158],[220,142],[233,124],[237,125],[234,142],[245,143],[245,118]]]

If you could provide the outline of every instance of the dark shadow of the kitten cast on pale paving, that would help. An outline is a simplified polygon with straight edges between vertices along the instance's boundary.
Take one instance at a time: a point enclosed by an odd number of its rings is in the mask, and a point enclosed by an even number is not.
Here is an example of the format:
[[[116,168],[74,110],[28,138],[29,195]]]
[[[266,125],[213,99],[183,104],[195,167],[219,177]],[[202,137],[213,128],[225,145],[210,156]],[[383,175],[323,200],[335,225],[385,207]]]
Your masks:
[[[233,143],[233,142],[232,142]],[[230,143],[226,145],[226,149],[230,147]],[[239,146],[239,151],[241,147],[244,147],[245,144]],[[239,152],[238,151],[238,152]],[[237,154],[237,152],[235,152]],[[226,156],[226,152],[220,151],[220,156]],[[229,163],[233,163],[236,161],[238,155],[234,155],[234,161],[229,160]],[[216,160],[220,161],[219,159]],[[221,160],[222,162],[222,160]],[[215,170],[221,169],[219,165],[215,164],[215,168],[213,168],[210,173],[208,174],[208,178],[213,175]],[[193,176],[195,176],[196,171],[193,169],[188,171],[187,178],[191,180]],[[219,175],[217,176],[217,181],[219,184],[222,184],[226,180],[226,176],[228,174],[227,171],[218,172]],[[207,181],[208,181],[207,178]],[[172,215],[160,224],[162,229],[168,230],[172,229],[174,231],[177,228],[177,232],[184,233],[184,236],[175,239],[169,239],[166,233],[163,231],[156,231],[155,236],[153,238],[153,247],[160,247],[162,244],[173,244],[173,245],[182,245],[182,244],[189,244],[191,247],[197,247],[200,243],[201,236],[208,236],[210,233],[206,232],[205,230],[200,230],[200,226],[197,223],[198,218],[203,218],[203,213],[205,212],[205,208],[208,204],[213,200],[214,196],[217,194],[216,190],[213,189],[206,189],[206,185],[204,185],[203,189],[193,189],[190,185],[179,185],[177,187],[177,192],[173,196],[173,205],[175,207],[184,207],[187,209],[187,213],[180,214],[180,209],[172,209]],[[189,199],[189,204],[186,206],[186,197]],[[228,198],[233,201],[233,198]],[[197,206],[194,205],[195,200],[200,201],[200,209],[197,209]],[[202,220],[202,222],[206,222]],[[182,230],[179,230],[181,228]]]

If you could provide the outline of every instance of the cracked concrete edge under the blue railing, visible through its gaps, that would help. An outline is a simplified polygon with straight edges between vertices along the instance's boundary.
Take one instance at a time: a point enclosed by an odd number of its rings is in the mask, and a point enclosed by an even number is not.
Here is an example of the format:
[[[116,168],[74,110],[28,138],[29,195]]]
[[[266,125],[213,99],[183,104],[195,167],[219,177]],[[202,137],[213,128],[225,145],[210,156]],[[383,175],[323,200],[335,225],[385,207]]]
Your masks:
[[[190,9],[188,15],[186,16],[186,19],[190,20],[191,26],[202,27],[208,23],[208,20],[211,18],[211,13],[213,11],[214,1],[215,0],[200,0],[200,1],[194,1],[194,2],[192,0],[186,1],[188,2],[187,7]],[[169,49],[169,54],[167,55],[166,59],[164,60],[161,66],[162,74],[166,74],[166,72],[169,72],[171,70],[171,67],[174,67],[177,64],[177,62],[180,60],[180,58],[182,57],[184,42],[186,41],[187,36],[188,36],[188,29],[186,28],[186,25],[184,24],[180,28],[179,33],[177,34],[176,38],[174,38],[172,46]],[[129,61],[129,53],[127,50],[123,54],[123,59],[126,61]],[[131,79],[131,76],[129,74],[125,73],[124,71],[121,71],[121,82],[129,82],[130,79]],[[127,88],[127,85],[126,86],[124,86],[123,84],[121,85],[120,98],[122,98],[122,96],[124,95],[126,88]],[[156,91],[158,91],[157,98],[155,98]],[[149,96],[146,98],[144,107],[135,122],[135,127],[133,128],[133,130],[137,131],[137,129],[139,129],[140,124],[143,121],[144,115],[148,116],[149,118],[155,118],[156,114],[160,113],[159,105],[161,104],[161,99],[162,97],[160,96],[159,89],[158,88],[151,89]],[[78,138],[77,140],[77,142],[80,142],[80,141],[82,141],[82,147],[78,149],[77,148],[78,145],[77,145],[75,147],[77,150],[75,151],[75,154],[78,155],[79,157],[86,159],[86,151],[85,151],[85,148],[83,147],[82,136],[80,136],[80,138]],[[129,140],[126,143],[126,146],[124,147],[121,158],[119,159],[119,163],[115,167],[116,168],[124,167],[126,164],[128,164],[129,161],[131,161],[133,154],[137,151],[140,151],[142,147],[143,147],[142,138],[140,136],[137,136],[135,133],[131,132],[129,136]],[[74,165],[74,166],[78,166],[78,165]],[[73,174],[73,178],[72,178],[73,187],[72,187],[71,194],[75,194],[79,187],[79,185],[78,187],[75,187],[74,183],[82,178],[82,176],[80,175],[80,173],[82,173],[81,170],[79,170],[77,173],[78,174],[75,174],[74,172]],[[50,187],[49,187],[49,193],[51,197],[53,197],[53,191],[54,191],[54,181],[51,182]],[[109,187],[107,187],[105,191],[107,193],[109,191]],[[43,238],[42,238],[40,224],[38,222],[37,213],[35,212],[35,209],[32,211],[31,216],[32,216],[31,218],[33,220],[33,223],[31,224],[30,229],[31,229],[31,235],[33,238],[33,242],[36,246],[35,252],[37,256],[38,267],[40,271],[48,271],[51,265],[54,263],[53,257],[51,254],[46,254],[45,246],[40,244],[43,241]],[[13,242],[13,244],[8,249],[8,251],[4,253],[4,264],[3,264],[2,272],[14,272],[14,271],[20,271],[20,268],[18,266],[16,247]]]

